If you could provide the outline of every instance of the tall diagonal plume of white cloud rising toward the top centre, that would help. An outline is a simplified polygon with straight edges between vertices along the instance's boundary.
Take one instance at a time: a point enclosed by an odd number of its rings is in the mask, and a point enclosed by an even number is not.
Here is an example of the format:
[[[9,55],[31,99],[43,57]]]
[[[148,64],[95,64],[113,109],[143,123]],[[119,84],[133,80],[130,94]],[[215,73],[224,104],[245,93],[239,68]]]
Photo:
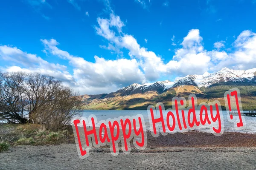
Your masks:
[[[131,58],[136,57],[139,61],[146,79],[151,81],[160,76],[160,73],[165,69],[162,59],[154,52],[148,51],[147,48],[140,47],[132,35],[123,33],[124,24],[119,16],[111,14],[110,19],[98,18],[97,20],[99,27],[95,27],[96,33],[109,40],[117,48],[128,49],[129,56]]]

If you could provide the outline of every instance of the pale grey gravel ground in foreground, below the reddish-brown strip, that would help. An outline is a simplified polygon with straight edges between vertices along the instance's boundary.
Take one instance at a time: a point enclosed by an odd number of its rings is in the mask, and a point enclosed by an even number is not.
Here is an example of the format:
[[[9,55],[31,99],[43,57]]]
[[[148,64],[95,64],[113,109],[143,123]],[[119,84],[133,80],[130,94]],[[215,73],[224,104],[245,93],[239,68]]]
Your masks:
[[[256,147],[157,147],[112,156],[93,149],[79,159],[75,144],[16,146],[0,153],[3,170],[173,169],[255,170]],[[105,152],[106,151],[106,152]]]

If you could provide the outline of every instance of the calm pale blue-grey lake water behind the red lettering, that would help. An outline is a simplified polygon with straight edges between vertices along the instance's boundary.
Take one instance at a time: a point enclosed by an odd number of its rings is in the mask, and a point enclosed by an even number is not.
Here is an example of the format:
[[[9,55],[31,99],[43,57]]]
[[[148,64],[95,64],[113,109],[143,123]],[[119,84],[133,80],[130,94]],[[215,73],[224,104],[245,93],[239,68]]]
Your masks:
[[[175,115],[175,119],[176,119],[176,113],[175,111],[172,111]],[[244,111],[247,112],[247,111]],[[197,120],[200,120],[199,118],[199,113],[200,111],[196,111],[196,116],[197,116]],[[215,111],[213,111],[214,115],[215,115]],[[234,122],[230,122],[231,120],[228,120],[228,113],[226,111],[222,111],[220,112],[222,114],[222,120],[223,122],[221,123],[221,128],[223,132],[241,132],[241,133],[256,133],[256,117],[250,117],[250,116],[243,116],[243,123],[244,126],[243,127],[236,127],[234,126],[234,124],[236,125],[236,123]],[[102,111],[102,110],[84,110],[81,119],[83,119],[83,117],[87,118],[93,114],[97,117],[98,122],[100,120],[106,120],[106,119],[113,119],[113,118],[118,118],[119,116],[136,116],[138,114],[143,115],[144,117],[144,121],[145,121],[145,128],[146,130],[150,130],[150,123],[149,123],[149,117],[148,117],[148,111]],[[155,118],[159,117],[159,113],[156,114],[156,112],[154,113],[156,116]],[[166,114],[167,111],[164,112],[163,111],[163,117],[166,119]],[[204,113],[203,113],[204,114]],[[157,116],[158,115],[158,116]],[[181,111],[179,112],[180,115],[180,122],[182,122],[182,116],[181,116]],[[187,115],[187,111],[185,111],[185,115]],[[210,117],[210,112],[208,111],[208,115]],[[151,116],[150,116],[151,117]],[[204,117],[204,116],[203,116]],[[187,117],[185,116],[185,119],[187,121]],[[239,116],[233,116],[233,120],[239,120]],[[170,122],[172,119],[170,119]],[[211,119],[210,119],[211,120]],[[183,127],[183,123],[182,127]],[[159,124],[160,125],[160,124]],[[188,125],[187,125],[188,126]],[[184,128],[183,130],[179,130],[178,129],[178,125],[177,125],[177,120],[176,120],[176,129],[177,131],[185,131]],[[201,131],[201,132],[212,132],[212,127],[218,127],[218,121],[216,121],[215,123],[211,123],[211,125],[200,125],[198,127],[195,127],[195,130]],[[167,127],[166,127],[167,128]],[[186,130],[187,131],[187,130]]]

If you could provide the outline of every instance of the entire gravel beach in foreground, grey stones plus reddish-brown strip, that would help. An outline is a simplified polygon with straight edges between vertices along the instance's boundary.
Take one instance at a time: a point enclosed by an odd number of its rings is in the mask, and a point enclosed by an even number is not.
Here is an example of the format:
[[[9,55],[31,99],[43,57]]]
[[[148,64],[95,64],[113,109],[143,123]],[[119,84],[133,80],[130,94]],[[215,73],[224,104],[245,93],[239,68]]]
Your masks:
[[[175,133],[158,138],[148,134],[145,150],[112,156],[108,147],[92,148],[80,159],[74,143],[16,146],[0,153],[2,170],[174,169],[255,170],[256,135]]]

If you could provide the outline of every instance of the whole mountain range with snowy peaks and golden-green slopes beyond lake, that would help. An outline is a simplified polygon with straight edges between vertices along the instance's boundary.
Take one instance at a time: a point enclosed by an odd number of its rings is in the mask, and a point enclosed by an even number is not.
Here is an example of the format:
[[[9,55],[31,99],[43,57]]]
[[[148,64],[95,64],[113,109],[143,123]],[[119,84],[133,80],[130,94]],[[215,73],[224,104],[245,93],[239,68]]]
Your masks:
[[[134,83],[110,94],[82,95],[84,109],[125,109],[145,110],[148,105],[162,102],[166,108],[172,108],[174,96],[188,97],[195,94],[198,103],[219,100],[224,107],[224,93],[237,87],[241,92],[244,110],[256,109],[256,68],[233,70],[223,68],[216,73],[187,75],[176,79],[145,83]]]

